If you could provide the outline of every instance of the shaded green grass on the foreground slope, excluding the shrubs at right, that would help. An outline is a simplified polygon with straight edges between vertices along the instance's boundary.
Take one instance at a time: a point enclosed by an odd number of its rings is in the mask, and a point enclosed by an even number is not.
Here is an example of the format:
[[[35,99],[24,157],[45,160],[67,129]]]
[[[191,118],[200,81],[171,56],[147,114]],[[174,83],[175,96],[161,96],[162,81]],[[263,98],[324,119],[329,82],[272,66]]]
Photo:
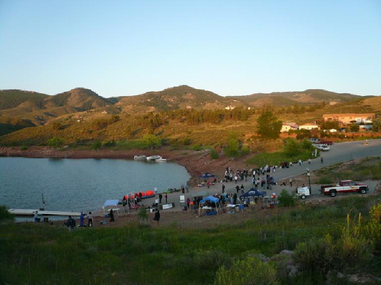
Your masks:
[[[272,256],[327,234],[336,240],[346,214],[361,212],[363,223],[367,222],[375,199],[349,197],[334,205],[299,205],[260,220],[253,215],[238,226],[208,230],[135,225],[69,233],[65,227],[5,224],[0,233],[0,283],[213,284],[222,266],[236,268],[236,260],[246,260],[253,253]],[[363,269],[377,276],[380,264],[375,256]],[[309,270],[295,278],[282,276],[279,270],[280,284],[324,280],[322,274]]]

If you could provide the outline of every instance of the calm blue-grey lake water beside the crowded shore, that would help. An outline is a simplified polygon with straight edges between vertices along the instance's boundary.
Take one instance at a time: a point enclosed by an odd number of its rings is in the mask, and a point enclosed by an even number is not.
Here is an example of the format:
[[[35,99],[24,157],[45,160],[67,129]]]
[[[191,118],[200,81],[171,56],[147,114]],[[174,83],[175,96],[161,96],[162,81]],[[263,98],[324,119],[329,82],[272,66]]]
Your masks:
[[[130,192],[186,185],[185,167],[170,162],[121,159],[0,157],[0,205],[46,210],[96,211]]]

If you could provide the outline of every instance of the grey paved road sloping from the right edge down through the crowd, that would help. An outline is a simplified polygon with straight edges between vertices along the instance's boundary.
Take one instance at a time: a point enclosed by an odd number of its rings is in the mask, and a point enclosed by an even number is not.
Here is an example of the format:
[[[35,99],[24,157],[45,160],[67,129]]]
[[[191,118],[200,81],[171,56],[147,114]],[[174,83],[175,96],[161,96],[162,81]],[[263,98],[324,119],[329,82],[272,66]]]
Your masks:
[[[286,168],[286,169],[278,169],[275,173],[273,173],[273,176],[275,178],[275,181],[280,181],[284,179],[288,179],[289,177],[298,176],[300,174],[306,173],[306,168],[310,168],[311,171],[317,170],[319,168],[336,164],[339,162],[344,162],[356,158],[365,158],[365,157],[371,157],[371,156],[381,156],[381,139],[377,140],[369,140],[369,145],[363,145],[364,141],[355,141],[355,142],[339,142],[334,143],[333,145],[330,145],[330,150],[326,152],[321,152],[321,156],[323,156],[323,163],[320,163],[320,158],[312,159],[311,164],[308,164],[307,161],[303,162],[301,166],[299,164],[293,165],[292,167]],[[242,169],[244,166],[242,167]],[[245,187],[245,191],[249,190],[252,187],[251,177],[248,177],[247,182],[241,182],[240,185],[243,183]],[[366,182],[369,185],[370,193],[373,193],[376,187],[376,182]],[[234,182],[225,183],[225,190],[231,191],[234,193],[236,184]],[[295,188],[291,188],[289,186],[273,186],[271,191],[266,190],[267,194],[270,195],[272,192],[275,192],[276,195],[279,195],[280,191],[282,189],[286,189],[289,192],[292,192],[295,190]],[[327,196],[324,196],[319,193],[319,186],[313,185],[312,186],[312,194],[313,196],[309,197],[309,199],[321,199]],[[185,193],[185,197],[190,197],[195,192],[198,191],[208,191],[209,194],[216,194],[222,192],[222,183],[217,183],[215,186],[211,186],[210,189],[207,189],[206,187],[202,188],[191,188],[189,190],[189,193]],[[179,200],[180,195],[183,195],[180,192],[175,192],[168,194],[168,202],[175,202],[176,208],[174,209],[168,209],[165,211],[178,211],[179,210]],[[347,195],[347,194],[342,194]],[[350,194],[349,194],[350,195]],[[164,197],[163,197],[164,200]],[[191,198],[192,200],[192,198]],[[148,198],[143,201],[144,204],[152,205],[154,202],[154,198]]]

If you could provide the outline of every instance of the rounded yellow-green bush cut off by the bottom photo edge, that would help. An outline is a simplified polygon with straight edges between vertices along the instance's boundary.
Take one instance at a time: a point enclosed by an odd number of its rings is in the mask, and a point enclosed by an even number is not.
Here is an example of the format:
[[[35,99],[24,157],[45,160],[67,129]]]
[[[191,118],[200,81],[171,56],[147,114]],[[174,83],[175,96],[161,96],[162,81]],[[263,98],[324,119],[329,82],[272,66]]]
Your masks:
[[[214,280],[214,285],[277,285],[277,274],[270,263],[248,257],[246,260],[233,262],[230,268],[221,266]]]

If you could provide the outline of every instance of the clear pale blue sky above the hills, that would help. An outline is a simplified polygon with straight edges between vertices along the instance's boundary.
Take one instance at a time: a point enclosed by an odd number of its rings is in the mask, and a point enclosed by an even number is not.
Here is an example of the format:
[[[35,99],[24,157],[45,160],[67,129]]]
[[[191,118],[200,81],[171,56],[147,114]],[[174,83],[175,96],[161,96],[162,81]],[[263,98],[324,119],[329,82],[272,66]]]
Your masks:
[[[0,0],[0,89],[381,95],[381,0]]]

